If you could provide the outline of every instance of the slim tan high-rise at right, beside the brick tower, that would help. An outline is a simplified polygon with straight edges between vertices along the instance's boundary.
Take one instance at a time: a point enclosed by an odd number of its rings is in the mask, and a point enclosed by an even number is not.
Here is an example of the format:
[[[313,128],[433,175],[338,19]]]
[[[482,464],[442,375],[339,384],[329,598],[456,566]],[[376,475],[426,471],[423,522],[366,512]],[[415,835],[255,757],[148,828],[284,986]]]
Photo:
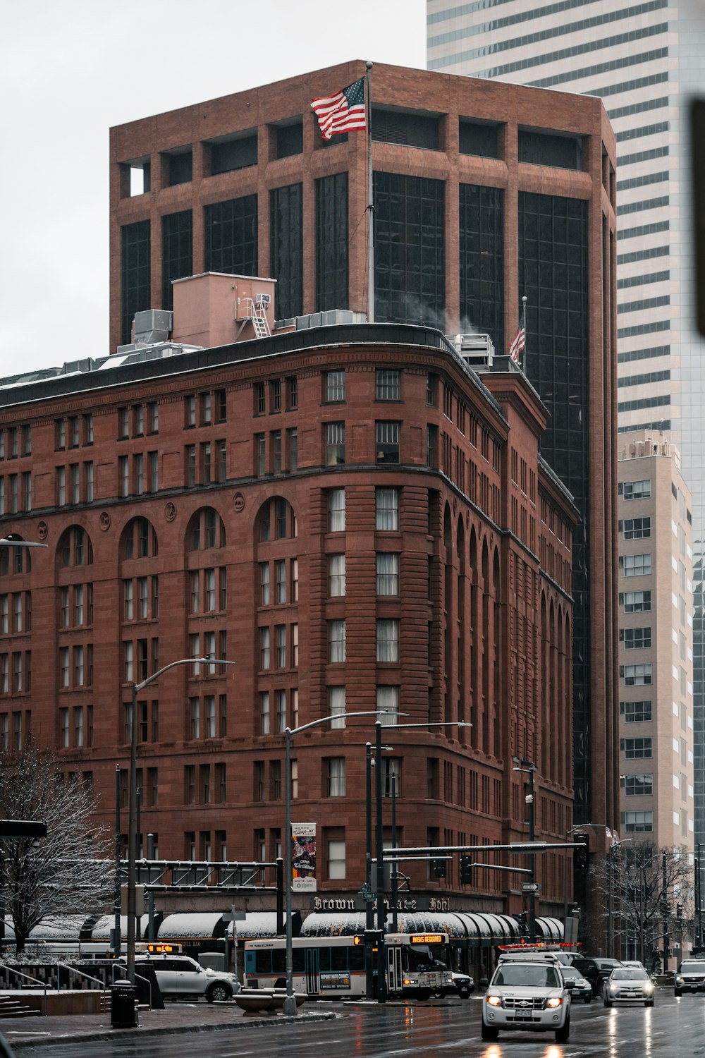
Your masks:
[[[618,454],[620,836],[693,844],[692,515],[663,434]]]

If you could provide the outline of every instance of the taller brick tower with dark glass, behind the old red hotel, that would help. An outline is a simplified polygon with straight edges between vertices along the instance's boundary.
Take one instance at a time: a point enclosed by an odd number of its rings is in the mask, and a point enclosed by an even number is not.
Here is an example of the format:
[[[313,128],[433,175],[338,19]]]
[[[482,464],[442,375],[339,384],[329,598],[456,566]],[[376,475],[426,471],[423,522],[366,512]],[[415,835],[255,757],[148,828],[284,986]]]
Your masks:
[[[367,135],[328,145],[311,99],[352,61],[111,130],[111,347],[172,280],[268,275],[276,318],[367,311]],[[575,819],[617,829],[615,140],[598,98],[375,65],[375,320],[489,333],[527,297],[540,449],[570,490]],[[199,344],[203,344],[199,342]]]

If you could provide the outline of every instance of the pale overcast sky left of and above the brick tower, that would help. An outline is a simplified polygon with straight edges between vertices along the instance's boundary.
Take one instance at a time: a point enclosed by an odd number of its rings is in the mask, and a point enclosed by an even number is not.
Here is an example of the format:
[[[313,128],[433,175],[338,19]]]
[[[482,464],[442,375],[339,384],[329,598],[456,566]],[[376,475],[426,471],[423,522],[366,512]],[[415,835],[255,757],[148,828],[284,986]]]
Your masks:
[[[423,69],[426,3],[0,0],[0,39],[6,376],[109,352],[112,125],[349,59]]]

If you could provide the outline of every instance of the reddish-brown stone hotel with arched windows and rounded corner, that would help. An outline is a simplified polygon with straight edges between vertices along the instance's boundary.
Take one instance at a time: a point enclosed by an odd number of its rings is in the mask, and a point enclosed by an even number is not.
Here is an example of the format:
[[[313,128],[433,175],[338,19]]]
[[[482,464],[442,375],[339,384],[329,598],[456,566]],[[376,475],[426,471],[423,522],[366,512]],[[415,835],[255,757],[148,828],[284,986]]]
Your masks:
[[[472,724],[384,732],[402,843],[525,836],[515,755],[538,766],[537,835],[572,825],[577,512],[538,457],[544,409],[506,360],[479,381],[439,332],[341,330],[5,393],[2,530],[49,545],[21,569],[3,552],[5,744],[31,731],[56,746],[111,825],[131,682],[178,658],[236,662],[175,669],[140,695],[141,829],[160,858],[274,857],[283,728],[344,700]],[[317,824],[319,892],[365,879],[373,723],[293,740],[293,818]],[[558,912],[563,858],[537,863],[543,913]],[[441,882],[423,863],[405,873],[414,892],[521,910],[505,875],[461,887],[457,860]]]

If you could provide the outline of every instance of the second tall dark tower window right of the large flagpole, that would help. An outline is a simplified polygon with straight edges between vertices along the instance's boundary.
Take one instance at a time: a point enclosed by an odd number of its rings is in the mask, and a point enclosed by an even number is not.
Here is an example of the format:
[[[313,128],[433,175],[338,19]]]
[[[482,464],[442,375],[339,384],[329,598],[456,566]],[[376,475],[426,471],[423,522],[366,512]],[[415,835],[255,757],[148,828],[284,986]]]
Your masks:
[[[479,126],[485,128],[485,126]],[[504,191],[460,185],[460,320],[504,349]]]

